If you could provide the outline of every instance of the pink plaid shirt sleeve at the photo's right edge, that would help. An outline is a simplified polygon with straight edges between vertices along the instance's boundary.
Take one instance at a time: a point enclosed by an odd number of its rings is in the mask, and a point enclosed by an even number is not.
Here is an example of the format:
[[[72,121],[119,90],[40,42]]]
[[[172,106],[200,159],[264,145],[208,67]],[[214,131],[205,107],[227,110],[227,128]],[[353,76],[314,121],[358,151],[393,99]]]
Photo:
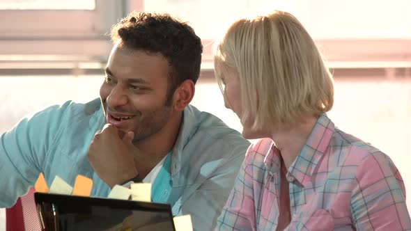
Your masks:
[[[382,152],[362,159],[352,192],[352,221],[357,230],[410,230],[405,186],[398,169]]]

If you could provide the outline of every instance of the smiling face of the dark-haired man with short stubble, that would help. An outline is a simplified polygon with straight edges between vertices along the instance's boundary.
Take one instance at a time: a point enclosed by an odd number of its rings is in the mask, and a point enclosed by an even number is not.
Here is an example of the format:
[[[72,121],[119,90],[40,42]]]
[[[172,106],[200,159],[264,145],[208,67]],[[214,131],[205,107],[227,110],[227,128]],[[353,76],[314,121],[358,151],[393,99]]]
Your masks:
[[[133,131],[133,142],[160,132],[169,122],[166,106],[169,62],[162,54],[114,45],[106,67],[100,98],[108,123],[119,136]]]

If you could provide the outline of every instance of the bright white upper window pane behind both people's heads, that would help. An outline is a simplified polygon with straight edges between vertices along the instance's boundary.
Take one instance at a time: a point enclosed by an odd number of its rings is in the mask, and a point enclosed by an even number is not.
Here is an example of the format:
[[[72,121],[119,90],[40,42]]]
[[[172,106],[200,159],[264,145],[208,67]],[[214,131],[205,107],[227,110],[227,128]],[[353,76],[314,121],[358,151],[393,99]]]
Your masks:
[[[409,0],[144,0],[144,10],[180,17],[203,39],[236,17],[274,9],[295,15],[314,38],[411,38]]]

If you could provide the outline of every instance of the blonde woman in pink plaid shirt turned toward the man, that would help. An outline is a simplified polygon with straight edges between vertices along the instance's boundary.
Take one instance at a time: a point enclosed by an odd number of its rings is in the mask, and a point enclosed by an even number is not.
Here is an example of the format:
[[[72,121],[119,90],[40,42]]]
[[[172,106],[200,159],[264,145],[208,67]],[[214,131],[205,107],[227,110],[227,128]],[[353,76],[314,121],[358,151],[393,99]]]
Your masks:
[[[293,15],[240,19],[214,54],[226,107],[245,138],[261,138],[247,150],[217,230],[411,229],[391,159],[327,118],[332,75]]]

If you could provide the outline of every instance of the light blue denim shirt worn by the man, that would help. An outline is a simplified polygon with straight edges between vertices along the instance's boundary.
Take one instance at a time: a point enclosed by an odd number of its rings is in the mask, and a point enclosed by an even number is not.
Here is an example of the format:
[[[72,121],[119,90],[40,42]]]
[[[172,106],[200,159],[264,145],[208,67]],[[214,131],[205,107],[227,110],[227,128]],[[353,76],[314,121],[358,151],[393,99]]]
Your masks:
[[[162,179],[153,183],[153,189],[158,189],[152,193],[153,200],[168,202],[175,216],[191,214],[195,230],[212,230],[249,141],[194,106],[187,106],[183,115],[169,170],[162,170]],[[104,123],[100,99],[87,104],[69,101],[24,118],[2,134],[0,207],[12,206],[41,172],[48,186],[56,175],[71,185],[79,174],[90,177],[92,196],[107,197],[109,186],[93,171],[86,157],[95,132]]]

